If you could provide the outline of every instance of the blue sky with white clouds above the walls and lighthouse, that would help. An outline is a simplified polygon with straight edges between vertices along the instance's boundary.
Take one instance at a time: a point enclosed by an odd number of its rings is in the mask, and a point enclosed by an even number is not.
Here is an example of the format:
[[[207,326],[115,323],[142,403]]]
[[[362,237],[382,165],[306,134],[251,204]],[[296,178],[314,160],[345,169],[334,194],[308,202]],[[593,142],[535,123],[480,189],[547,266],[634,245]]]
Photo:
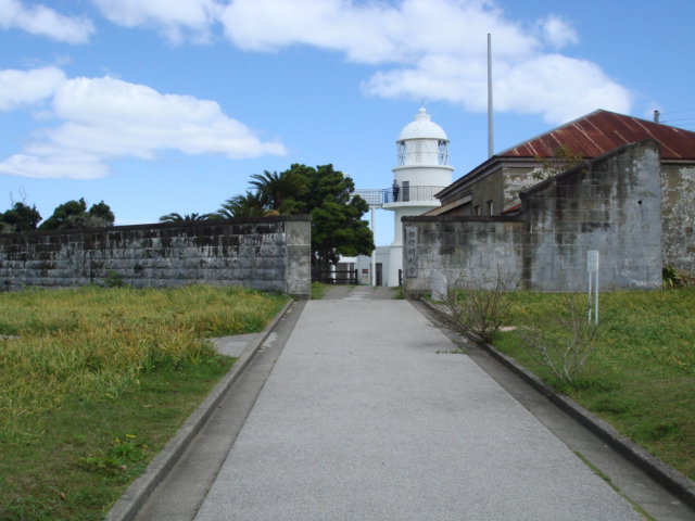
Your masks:
[[[0,0],[0,211],[85,198],[154,223],[293,163],[388,188],[420,100],[456,179],[486,158],[488,33],[495,151],[596,109],[695,130],[693,20],[682,0]]]

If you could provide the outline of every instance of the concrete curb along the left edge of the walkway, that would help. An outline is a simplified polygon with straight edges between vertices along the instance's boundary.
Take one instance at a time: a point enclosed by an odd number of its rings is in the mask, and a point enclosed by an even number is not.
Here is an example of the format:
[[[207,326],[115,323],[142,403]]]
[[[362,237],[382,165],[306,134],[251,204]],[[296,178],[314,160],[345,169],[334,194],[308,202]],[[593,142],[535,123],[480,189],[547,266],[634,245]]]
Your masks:
[[[288,302],[275,318],[268,323],[256,339],[249,344],[229,372],[215,385],[202,404],[186,420],[184,427],[157,454],[142,475],[132,482],[123,496],[106,514],[108,521],[131,521],[142,508],[156,486],[164,481],[169,470],[176,465],[184,450],[190,445],[201,428],[205,424],[225,394],[239,379],[243,370],[251,364],[254,356],[268,338],[273,329],[282,319],[294,301]]]

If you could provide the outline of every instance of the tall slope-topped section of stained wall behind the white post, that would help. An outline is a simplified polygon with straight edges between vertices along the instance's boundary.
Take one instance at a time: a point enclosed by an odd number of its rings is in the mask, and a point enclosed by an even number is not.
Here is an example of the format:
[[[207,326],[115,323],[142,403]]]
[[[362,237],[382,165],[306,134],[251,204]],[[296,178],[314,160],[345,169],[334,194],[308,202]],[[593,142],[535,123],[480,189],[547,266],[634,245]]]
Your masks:
[[[605,289],[661,287],[659,145],[643,141],[578,165],[521,192],[525,279],[534,289],[584,287],[598,251]]]

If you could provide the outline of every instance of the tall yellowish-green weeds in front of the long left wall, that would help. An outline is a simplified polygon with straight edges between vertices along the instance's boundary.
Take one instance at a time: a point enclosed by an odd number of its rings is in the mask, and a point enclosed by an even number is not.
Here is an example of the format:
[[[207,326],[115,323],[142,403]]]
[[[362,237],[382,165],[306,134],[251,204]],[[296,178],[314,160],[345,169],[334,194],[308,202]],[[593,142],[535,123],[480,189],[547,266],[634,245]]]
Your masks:
[[[0,293],[0,424],[66,396],[114,398],[160,367],[216,356],[205,338],[262,329],[283,297],[240,288]]]

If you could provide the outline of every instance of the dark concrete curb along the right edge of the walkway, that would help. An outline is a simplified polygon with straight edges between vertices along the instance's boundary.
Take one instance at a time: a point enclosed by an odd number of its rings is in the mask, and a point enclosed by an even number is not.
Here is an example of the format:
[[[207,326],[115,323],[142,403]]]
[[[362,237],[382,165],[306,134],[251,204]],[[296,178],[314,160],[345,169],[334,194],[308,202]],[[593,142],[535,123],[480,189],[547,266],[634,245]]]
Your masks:
[[[427,300],[422,298],[419,302],[429,309],[434,309],[434,306]],[[505,367],[520,377],[526,383],[543,394],[563,412],[569,415],[583,427],[596,434],[608,446],[658,481],[671,494],[677,496],[688,507],[695,509],[695,482],[687,479],[670,465],[665,463],[657,457],[649,454],[632,440],[620,434],[612,425],[596,417],[568,396],[556,392],[551,385],[529,371],[526,367],[521,366],[504,353],[497,351],[494,345],[480,342],[480,339],[475,334],[469,334],[467,336],[476,342],[477,345],[484,348]]]

